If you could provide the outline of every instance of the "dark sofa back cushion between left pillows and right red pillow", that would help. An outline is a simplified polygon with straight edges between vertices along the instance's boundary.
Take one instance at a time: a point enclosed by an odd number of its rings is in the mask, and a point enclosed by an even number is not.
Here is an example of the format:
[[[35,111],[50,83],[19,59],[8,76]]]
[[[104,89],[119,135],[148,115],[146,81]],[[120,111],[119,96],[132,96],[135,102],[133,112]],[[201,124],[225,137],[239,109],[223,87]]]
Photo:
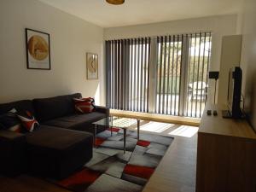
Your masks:
[[[36,117],[39,122],[63,117],[75,113],[73,98],[82,97],[80,93],[67,96],[55,96],[33,99]]]

